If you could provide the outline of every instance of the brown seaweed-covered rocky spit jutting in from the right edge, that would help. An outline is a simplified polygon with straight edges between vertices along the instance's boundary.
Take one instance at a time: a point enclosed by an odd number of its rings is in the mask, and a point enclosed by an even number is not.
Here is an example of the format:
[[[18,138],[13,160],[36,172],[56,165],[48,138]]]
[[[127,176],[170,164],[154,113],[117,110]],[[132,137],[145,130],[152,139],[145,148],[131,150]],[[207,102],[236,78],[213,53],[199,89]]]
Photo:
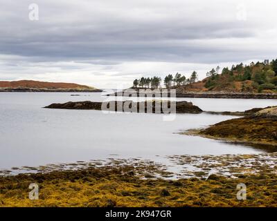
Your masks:
[[[277,107],[254,108],[244,113],[244,117],[229,119],[205,129],[189,130],[184,134],[277,147]]]

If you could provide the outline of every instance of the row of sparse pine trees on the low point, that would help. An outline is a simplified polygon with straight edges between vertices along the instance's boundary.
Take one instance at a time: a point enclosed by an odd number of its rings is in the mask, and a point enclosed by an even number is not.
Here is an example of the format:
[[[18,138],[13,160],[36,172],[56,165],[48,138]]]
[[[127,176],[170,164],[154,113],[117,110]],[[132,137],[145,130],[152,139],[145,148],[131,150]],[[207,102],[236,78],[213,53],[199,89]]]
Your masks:
[[[171,88],[172,86],[184,86],[186,84],[193,84],[197,81],[198,75],[196,71],[190,75],[189,78],[186,78],[185,75],[176,73],[173,75],[169,74],[163,79],[163,84],[166,88]],[[134,88],[159,88],[161,87],[161,77],[141,77],[141,79],[134,79],[133,81]]]

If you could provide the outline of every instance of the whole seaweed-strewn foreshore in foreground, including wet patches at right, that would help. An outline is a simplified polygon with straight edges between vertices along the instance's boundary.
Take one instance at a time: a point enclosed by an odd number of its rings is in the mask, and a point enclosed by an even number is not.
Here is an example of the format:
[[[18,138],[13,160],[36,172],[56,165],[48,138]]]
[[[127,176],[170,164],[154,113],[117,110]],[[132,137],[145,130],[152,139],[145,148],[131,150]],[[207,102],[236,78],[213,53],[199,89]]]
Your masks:
[[[75,169],[70,170],[0,176],[0,206],[277,206],[276,166],[271,166],[276,154],[264,157],[268,160],[258,155],[210,155],[200,157],[203,165],[199,165],[199,157],[172,156],[178,164],[195,164],[206,170],[178,179],[166,178],[170,174],[159,164],[137,160],[125,165],[118,160],[100,166],[96,162],[83,169],[80,162],[71,164]],[[258,173],[245,169],[249,163]],[[211,169],[227,168],[236,177],[208,174]],[[163,177],[155,177],[157,173]],[[241,183],[247,184],[246,200],[237,198]],[[30,184],[39,187],[38,200],[28,198]]]

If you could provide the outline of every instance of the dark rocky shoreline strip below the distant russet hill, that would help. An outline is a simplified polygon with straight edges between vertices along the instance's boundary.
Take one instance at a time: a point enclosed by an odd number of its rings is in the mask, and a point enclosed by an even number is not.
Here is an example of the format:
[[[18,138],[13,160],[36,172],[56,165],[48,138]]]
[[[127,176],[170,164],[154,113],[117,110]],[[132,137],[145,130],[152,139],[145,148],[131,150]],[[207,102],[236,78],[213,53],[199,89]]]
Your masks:
[[[47,89],[47,88],[0,88],[0,92],[77,92],[94,93],[102,92],[100,89]]]

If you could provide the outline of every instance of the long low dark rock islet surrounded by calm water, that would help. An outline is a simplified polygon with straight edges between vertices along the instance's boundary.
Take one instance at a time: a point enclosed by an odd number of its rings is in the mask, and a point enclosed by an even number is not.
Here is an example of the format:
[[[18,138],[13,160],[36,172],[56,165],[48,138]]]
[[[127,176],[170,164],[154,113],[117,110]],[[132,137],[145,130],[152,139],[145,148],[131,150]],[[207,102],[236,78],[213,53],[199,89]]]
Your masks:
[[[202,109],[191,102],[67,102],[64,104],[51,104],[45,108],[120,111],[133,113],[202,113]]]

